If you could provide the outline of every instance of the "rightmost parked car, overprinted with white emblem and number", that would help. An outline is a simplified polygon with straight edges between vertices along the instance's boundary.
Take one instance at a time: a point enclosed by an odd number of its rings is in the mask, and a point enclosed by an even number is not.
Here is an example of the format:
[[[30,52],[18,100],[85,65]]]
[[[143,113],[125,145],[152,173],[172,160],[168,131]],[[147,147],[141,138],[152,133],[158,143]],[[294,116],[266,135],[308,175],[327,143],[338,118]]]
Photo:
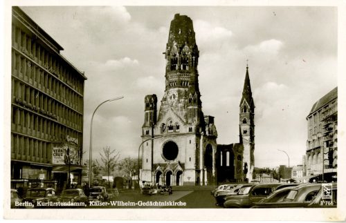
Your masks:
[[[330,191],[324,191],[325,188],[320,188],[316,197],[313,201],[308,204],[307,208],[336,208],[337,207],[337,198],[338,198],[338,184],[331,184]],[[328,189],[327,189],[328,190]],[[323,195],[323,197],[322,197]],[[330,195],[331,197],[325,197]]]

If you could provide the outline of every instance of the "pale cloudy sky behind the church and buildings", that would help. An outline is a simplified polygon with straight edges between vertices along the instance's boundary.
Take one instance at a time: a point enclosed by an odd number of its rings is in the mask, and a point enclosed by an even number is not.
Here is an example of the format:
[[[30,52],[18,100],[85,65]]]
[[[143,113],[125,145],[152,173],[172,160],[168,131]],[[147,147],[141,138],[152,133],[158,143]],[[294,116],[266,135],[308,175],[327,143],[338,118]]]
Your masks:
[[[217,143],[239,142],[239,102],[248,59],[255,101],[255,166],[302,164],[306,117],[338,85],[338,14],[333,7],[36,6],[21,7],[88,78],[84,88],[84,159],[110,146],[137,157],[144,97],[165,90],[165,57],[174,14],[193,21],[204,115]]]

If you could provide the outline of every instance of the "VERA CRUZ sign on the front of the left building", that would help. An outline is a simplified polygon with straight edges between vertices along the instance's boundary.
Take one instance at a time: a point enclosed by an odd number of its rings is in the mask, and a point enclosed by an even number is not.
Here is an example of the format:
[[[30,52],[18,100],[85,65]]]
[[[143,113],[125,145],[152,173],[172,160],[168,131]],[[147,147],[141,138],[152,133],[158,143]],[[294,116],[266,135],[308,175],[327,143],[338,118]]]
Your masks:
[[[68,153],[69,149],[69,153]],[[79,164],[80,154],[78,147],[73,144],[53,144],[52,146],[52,163],[53,164]]]

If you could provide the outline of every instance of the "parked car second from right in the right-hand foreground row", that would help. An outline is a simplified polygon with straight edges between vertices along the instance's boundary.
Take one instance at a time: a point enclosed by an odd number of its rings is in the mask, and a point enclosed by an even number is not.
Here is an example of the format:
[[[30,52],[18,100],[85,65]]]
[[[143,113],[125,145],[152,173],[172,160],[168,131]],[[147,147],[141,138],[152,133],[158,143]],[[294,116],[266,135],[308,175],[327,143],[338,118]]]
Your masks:
[[[296,208],[304,207],[311,203],[321,188],[321,184],[301,184],[289,188],[289,193],[276,202],[258,202],[255,203],[257,208]]]

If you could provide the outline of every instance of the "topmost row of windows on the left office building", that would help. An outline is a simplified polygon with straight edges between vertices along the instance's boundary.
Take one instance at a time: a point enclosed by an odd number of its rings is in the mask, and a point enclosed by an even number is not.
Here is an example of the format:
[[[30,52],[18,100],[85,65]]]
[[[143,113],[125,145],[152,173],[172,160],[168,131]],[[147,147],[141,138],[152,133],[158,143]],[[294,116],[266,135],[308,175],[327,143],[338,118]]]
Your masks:
[[[47,50],[41,44],[37,43],[36,38],[31,37],[23,29],[12,24],[12,46],[15,46],[25,55],[36,61],[37,64],[50,70],[57,75],[62,81],[72,86],[79,93],[83,93],[83,81],[80,81],[75,71],[66,68],[66,62],[58,59],[55,52]]]

